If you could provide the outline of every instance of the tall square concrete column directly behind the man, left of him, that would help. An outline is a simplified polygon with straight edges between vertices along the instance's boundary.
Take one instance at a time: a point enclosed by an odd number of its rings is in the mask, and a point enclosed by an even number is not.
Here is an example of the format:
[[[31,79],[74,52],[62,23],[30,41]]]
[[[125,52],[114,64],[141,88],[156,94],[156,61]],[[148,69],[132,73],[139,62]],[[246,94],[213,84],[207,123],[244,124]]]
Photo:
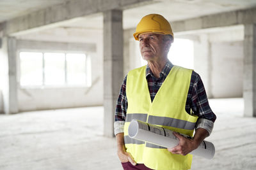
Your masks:
[[[113,137],[116,99],[123,81],[122,10],[104,12],[104,136]]]

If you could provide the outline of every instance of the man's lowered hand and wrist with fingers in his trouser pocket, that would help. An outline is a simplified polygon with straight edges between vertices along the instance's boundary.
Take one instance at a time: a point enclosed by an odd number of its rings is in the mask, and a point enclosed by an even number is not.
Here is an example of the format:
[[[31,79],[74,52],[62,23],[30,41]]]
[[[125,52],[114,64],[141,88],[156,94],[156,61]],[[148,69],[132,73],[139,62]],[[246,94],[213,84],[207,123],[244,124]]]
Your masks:
[[[131,153],[125,151],[124,133],[116,134],[116,142],[117,142],[117,155],[120,161],[131,162],[133,166],[136,166],[136,162],[134,161]]]

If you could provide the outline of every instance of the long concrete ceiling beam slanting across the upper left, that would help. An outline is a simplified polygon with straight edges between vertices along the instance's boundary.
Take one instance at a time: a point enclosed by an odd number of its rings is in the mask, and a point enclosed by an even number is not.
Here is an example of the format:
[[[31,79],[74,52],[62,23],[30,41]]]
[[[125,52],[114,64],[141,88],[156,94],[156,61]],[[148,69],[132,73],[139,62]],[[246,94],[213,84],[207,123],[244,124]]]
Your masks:
[[[151,2],[153,3],[153,0],[74,0],[13,18],[0,25],[4,25],[4,35],[13,36],[38,31],[38,29],[56,27],[63,22],[69,22],[86,15],[114,9],[124,10],[134,5],[139,6]]]

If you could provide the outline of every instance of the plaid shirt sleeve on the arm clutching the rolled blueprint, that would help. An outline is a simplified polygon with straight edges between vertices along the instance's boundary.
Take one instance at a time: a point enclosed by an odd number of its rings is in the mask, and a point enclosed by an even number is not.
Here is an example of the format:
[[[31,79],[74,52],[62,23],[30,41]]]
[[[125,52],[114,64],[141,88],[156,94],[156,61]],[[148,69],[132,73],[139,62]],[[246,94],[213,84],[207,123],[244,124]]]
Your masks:
[[[193,71],[191,75],[191,84],[189,87],[187,106],[193,114],[198,116],[196,122],[196,129],[204,128],[208,131],[209,135],[212,132],[213,124],[216,120],[216,115],[212,112],[207,95],[204,89],[204,83],[199,74]],[[188,111],[188,107],[186,110]]]

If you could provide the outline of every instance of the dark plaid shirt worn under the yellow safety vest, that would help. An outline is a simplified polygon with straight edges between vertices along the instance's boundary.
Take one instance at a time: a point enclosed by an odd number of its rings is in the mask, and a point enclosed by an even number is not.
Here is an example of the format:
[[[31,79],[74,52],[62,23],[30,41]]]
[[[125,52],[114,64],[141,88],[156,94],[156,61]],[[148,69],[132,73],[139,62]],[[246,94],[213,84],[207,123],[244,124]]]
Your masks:
[[[154,100],[154,97],[157,94],[157,91],[161,87],[164,82],[166,76],[169,74],[173,67],[173,64],[168,61],[164,66],[163,70],[160,73],[160,78],[156,78],[150,68],[147,66],[146,68],[146,78],[148,82],[148,90],[150,92],[151,101]],[[124,78],[124,82],[122,84],[118,100],[116,103],[116,112],[115,112],[115,134],[120,132],[124,132],[124,122],[127,112],[127,97],[126,97],[126,80],[127,76]],[[188,97],[186,100],[186,112],[190,115],[198,116],[198,120],[196,122],[197,128],[204,128],[211,134],[214,121],[216,120],[216,115],[212,112],[208,99],[206,96],[206,92],[204,89],[204,84],[195,71],[191,74],[191,81],[189,85]],[[191,113],[191,110],[193,113]]]

